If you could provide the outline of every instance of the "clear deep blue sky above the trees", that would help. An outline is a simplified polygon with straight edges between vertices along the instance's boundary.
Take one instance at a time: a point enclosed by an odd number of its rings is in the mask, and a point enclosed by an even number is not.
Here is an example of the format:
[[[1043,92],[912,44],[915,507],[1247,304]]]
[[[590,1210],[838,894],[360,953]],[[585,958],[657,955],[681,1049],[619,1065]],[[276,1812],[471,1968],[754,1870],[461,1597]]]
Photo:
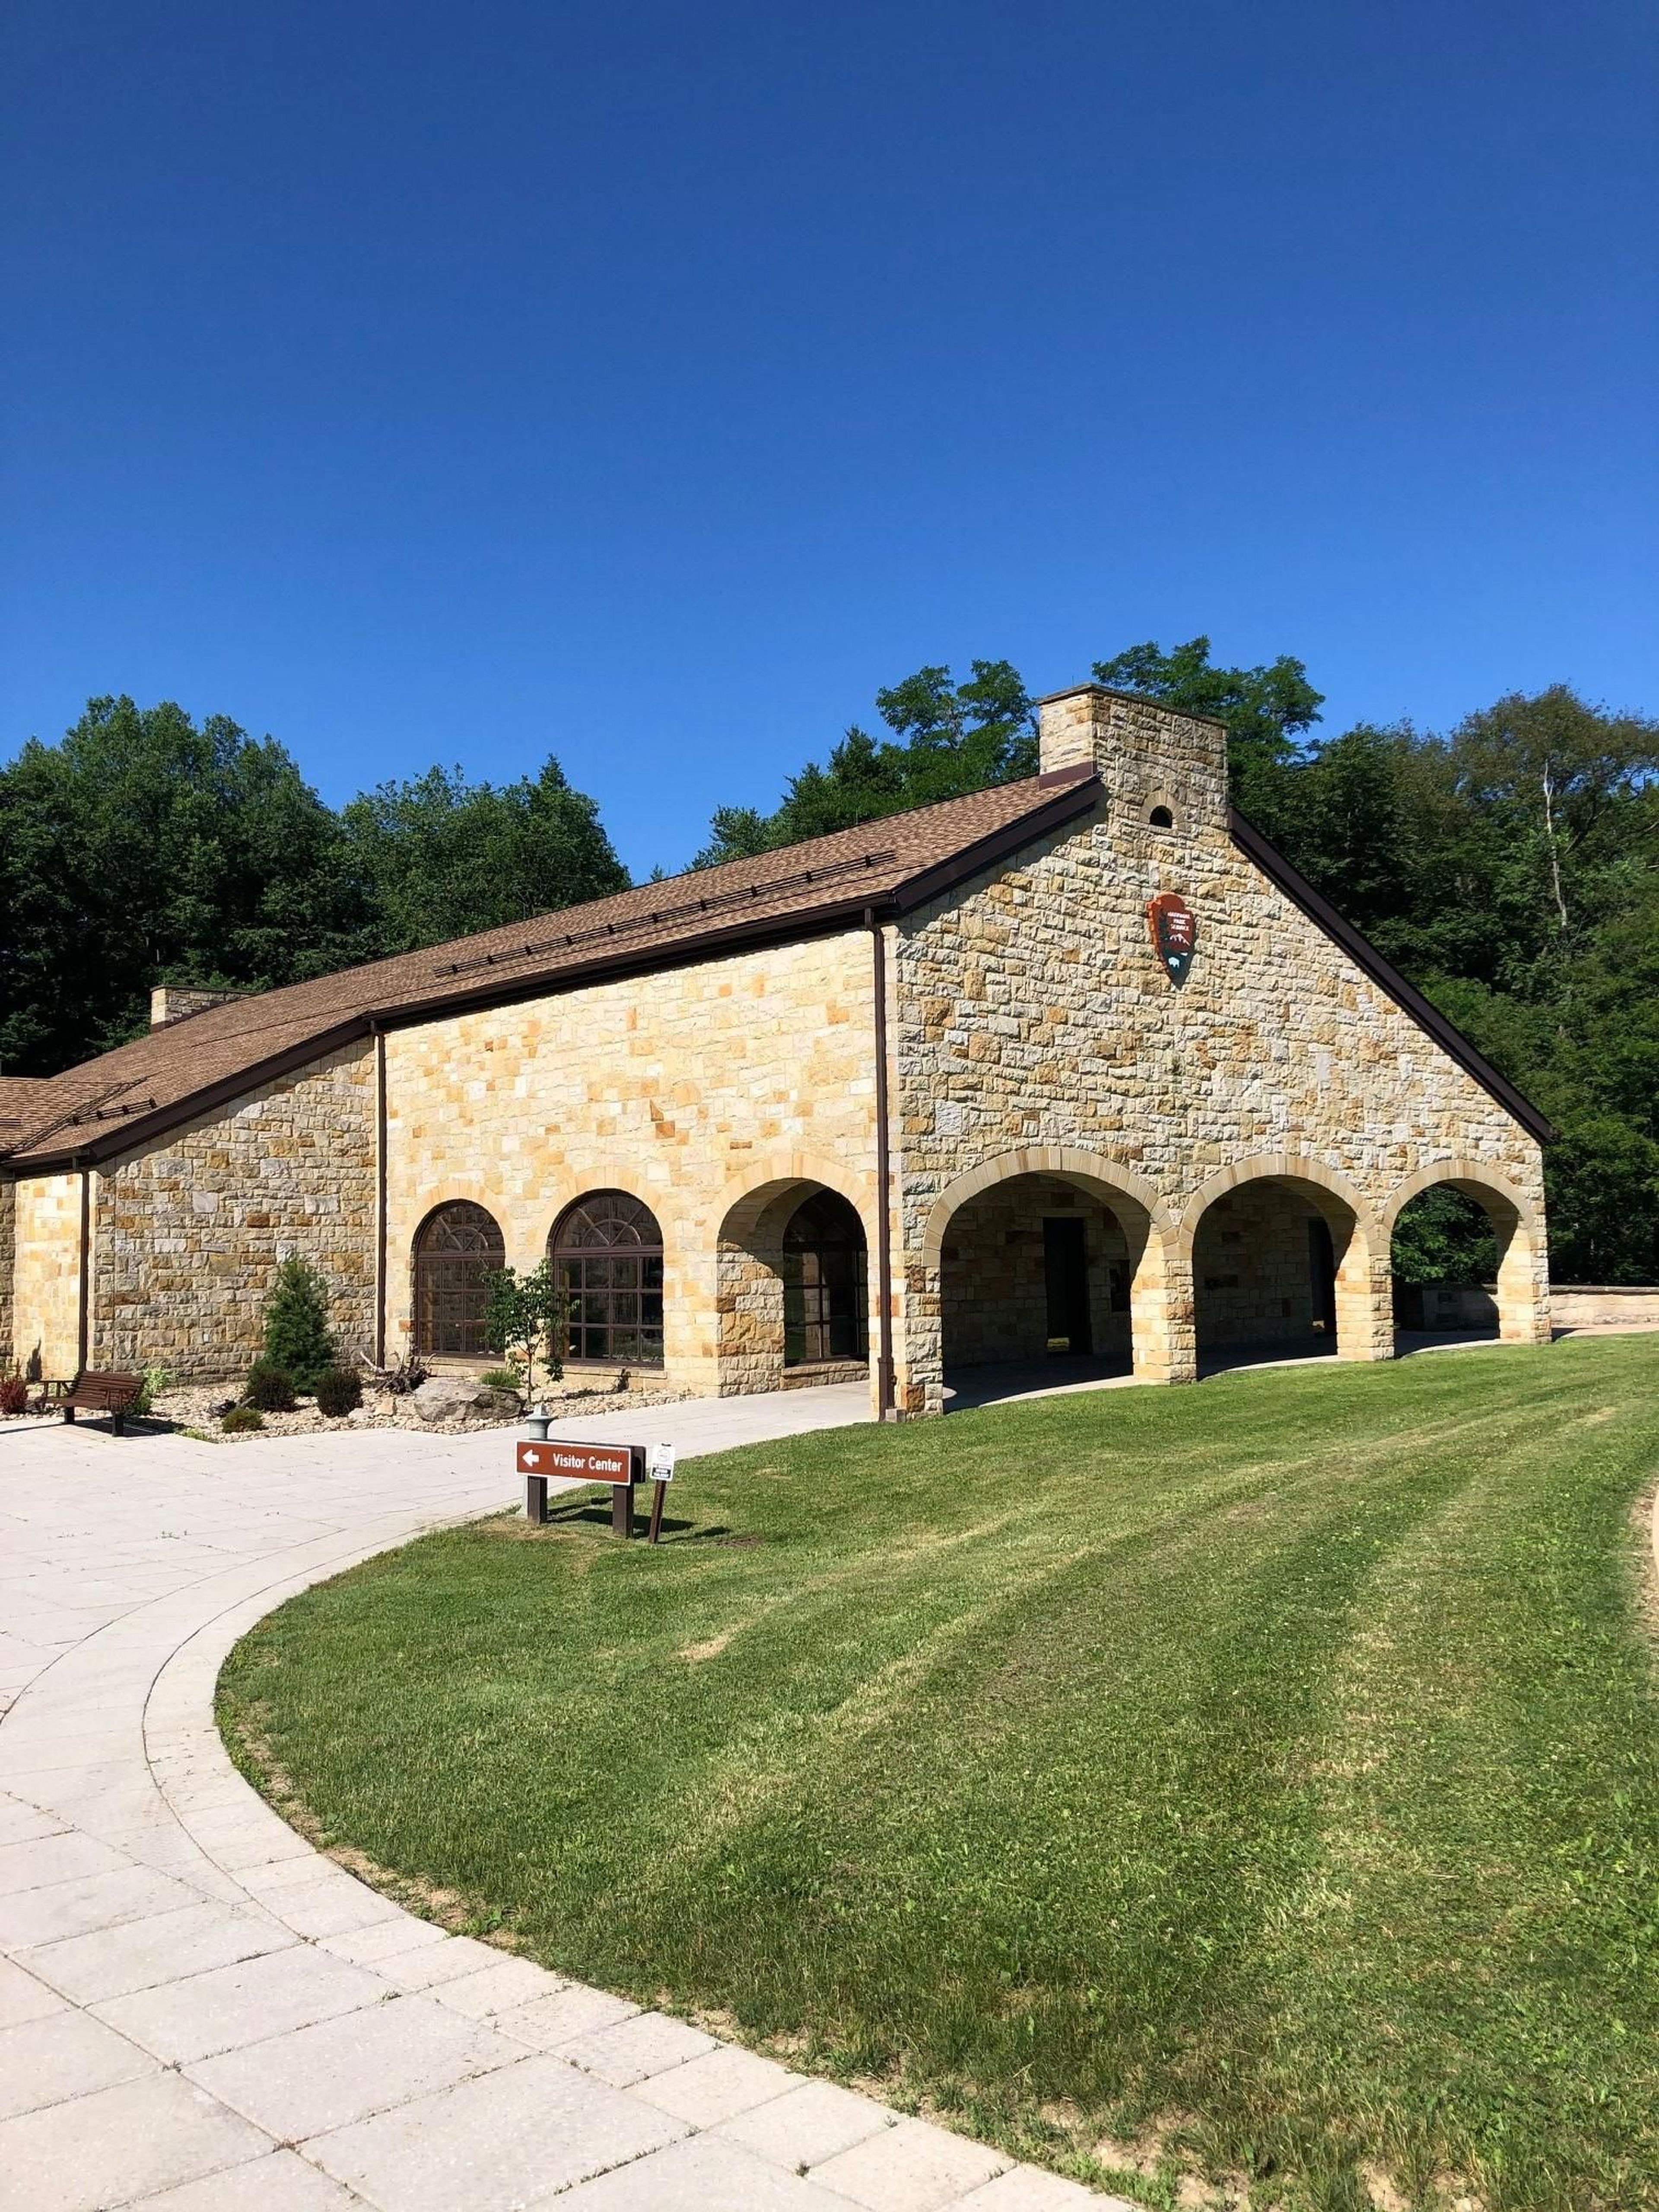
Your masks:
[[[553,750],[681,865],[1144,637],[1659,710],[1650,0],[11,0],[0,757]]]

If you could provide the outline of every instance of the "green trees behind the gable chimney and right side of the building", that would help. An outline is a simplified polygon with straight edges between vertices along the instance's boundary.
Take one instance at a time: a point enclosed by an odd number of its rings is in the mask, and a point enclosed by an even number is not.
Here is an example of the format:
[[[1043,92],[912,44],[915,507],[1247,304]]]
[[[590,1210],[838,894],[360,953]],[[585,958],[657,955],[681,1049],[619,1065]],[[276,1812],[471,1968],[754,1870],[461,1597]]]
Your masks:
[[[1314,737],[1303,661],[1221,668],[1208,637],[1130,646],[1095,679],[1228,726],[1234,803],[1559,1130],[1546,1152],[1557,1281],[1659,1281],[1659,721],[1557,684],[1440,734]],[[772,814],[721,807],[708,865],[1026,776],[1035,703],[1009,661],[922,668],[876,695]],[[1451,1194],[1407,1272],[1480,1272]],[[1396,1254],[1398,1259],[1400,1254]]]

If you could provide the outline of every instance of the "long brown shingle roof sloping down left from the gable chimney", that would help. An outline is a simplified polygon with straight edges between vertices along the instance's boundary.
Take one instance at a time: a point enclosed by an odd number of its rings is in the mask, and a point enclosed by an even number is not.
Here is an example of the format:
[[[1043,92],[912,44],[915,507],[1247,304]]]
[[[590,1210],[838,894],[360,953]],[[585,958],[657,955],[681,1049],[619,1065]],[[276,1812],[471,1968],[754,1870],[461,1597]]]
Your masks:
[[[4,1079],[0,1157],[18,1168],[104,1159],[303,1066],[372,1024],[405,1024],[684,964],[759,938],[847,927],[920,905],[1004,852],[1088,812],[1086,770],[891,814],[783,852],[641,883],[507,929],[259,991],[190,1013],[49,1079]],[[18,1097],[7,1104],[7,1095]]]

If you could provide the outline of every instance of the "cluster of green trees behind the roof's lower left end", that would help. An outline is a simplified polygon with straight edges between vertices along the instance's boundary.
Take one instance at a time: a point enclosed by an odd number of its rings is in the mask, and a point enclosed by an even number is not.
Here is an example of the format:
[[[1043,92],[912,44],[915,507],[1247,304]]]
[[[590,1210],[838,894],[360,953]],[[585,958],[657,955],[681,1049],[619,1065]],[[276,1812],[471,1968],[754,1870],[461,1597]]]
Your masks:
[[[330,807],[274,739],[93,699],[0,768],[0,1068],[148,1026],[157,982],[270,989],[628,887],[557,761],[429,768]]]

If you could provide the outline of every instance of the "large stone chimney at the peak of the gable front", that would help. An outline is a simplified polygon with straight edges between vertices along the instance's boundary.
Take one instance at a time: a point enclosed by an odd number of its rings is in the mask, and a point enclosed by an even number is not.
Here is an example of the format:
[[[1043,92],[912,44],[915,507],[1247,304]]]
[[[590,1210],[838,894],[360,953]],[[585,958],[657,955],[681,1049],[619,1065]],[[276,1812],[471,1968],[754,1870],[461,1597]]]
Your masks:
[[[1157,699],[1079,684],[1037,701],[1044,774],[1093,768],[1113,812],[1155,830],[1225,830],[1228,732]],[[1168,823],[1161,818],[1168,814]]]

